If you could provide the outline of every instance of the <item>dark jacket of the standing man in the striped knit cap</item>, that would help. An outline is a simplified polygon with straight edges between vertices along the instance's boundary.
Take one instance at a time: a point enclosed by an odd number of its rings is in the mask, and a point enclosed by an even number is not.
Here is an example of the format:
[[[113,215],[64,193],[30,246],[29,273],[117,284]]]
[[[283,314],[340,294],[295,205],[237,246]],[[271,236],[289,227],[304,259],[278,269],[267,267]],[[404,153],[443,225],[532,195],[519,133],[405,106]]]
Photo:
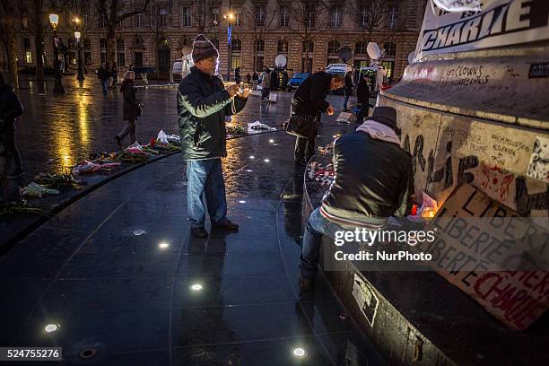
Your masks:
[[[181,152],[185,160],[204,160],[227,156],[225,116],[240,112],[246,105],[231,96],[219,76],[191,67],[177,96]]]

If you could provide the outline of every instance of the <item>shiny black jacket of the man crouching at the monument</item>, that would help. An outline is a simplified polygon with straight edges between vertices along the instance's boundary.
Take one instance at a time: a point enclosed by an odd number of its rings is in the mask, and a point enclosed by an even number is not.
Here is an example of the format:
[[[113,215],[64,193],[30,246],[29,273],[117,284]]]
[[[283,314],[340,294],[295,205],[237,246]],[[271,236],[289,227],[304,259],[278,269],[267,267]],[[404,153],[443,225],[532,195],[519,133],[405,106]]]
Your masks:
[[[397,144],[363,132],[343,135],[334,143],[334,169],[321,208],[328,220],[384,226],[388,216],[409,213],[412,155]]]

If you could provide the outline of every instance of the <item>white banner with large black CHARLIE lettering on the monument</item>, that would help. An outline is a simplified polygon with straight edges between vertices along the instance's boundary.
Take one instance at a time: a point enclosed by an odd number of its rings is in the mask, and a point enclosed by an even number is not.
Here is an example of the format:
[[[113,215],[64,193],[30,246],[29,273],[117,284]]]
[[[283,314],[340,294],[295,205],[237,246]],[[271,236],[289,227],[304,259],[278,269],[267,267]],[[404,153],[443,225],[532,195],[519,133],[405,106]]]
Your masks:
[[[461,13],[427,5],[415,61],[541,39],[549,39],[549,0],[484,0],[480,12]]]

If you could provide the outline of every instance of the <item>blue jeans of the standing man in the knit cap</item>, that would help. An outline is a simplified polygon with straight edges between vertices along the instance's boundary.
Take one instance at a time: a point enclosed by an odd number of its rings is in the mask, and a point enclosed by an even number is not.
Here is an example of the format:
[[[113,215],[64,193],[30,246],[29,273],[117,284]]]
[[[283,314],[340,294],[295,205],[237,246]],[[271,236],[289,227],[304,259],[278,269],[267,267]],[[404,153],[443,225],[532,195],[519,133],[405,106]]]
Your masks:
[[[221,158],[187,161],[187,211],[191,228],[204,227],[203,196],[205,196],[211,222],[226,221],[227,200]]]

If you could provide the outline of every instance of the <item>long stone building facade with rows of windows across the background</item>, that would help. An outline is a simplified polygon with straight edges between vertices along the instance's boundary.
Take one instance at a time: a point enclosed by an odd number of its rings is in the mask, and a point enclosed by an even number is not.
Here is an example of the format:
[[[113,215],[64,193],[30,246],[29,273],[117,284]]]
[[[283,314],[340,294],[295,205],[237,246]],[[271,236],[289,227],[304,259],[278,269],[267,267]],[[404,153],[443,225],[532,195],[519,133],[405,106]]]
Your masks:
[[[58,35],[67,47],[65,60],[76,67],[74,30],[81,32],[83,64],[94,71],[107,58],[107,19],[100,4],[117,3],[118,14],[142,9],[145,0],[74,0],[59,12],[44,8],[44,60],[52,65],[52,29],[48,13],[59,13]],[[45,4],[47,2],[44,2]],[[152,66],[168,74],[173,62],[190,53],[192,40],[204,33],[219,48],[219,71],[240,66],[242,75],[274,65],[283,55],[292,72],[315,72],[339,63],[340,48],[348,47],[355,66],[370,65],[369,41],[385,48],[388,76],[399,79],[414,51],[425,0],[152,0],[116,26],[116,60],[120,69]],[[45,5],[46,6],[46,5]],[[50,4],[48,4],[50,6]],[[15,33],[20,67],[36,63],[32,2],[17,7]],[[107,13],[107,17],[108,17]],[[78,23],[74,22],[78,19]],[[231,28],[231,31],[229,31]],[[229,42],[231,39],[231,42]],[[231,57],[229,57],[231,55]],[[6,49],[0,49],[5,68]]]

